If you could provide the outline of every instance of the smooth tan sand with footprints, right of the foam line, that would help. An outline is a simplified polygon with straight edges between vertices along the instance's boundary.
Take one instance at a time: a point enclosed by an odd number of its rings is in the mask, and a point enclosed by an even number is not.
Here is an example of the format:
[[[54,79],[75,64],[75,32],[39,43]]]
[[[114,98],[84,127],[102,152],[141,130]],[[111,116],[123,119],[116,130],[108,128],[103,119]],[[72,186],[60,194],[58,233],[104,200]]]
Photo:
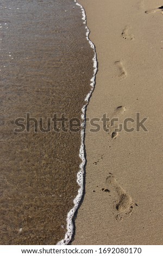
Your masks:
[[[87,123],[86,193],[73,244],[162,245],[163,15],[156,8],[163,2],[79,3],[99,65],[86,117],[106,113],[122,121],[140,112],[141,119],[148,117],[148,132],[122,131],[112,138],[103,129],[90,132]]]

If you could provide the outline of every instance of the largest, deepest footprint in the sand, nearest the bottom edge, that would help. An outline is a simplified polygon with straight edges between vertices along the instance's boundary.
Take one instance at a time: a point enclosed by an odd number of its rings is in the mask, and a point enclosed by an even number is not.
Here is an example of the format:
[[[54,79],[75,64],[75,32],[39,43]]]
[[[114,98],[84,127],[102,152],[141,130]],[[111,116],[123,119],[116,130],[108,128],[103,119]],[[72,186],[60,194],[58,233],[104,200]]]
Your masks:
[[[122,220],[124,217],[129,217],[133,210],[135,203],[129,194],[123,190],[123,188],[118,184],[114,176],[108,176],[105,181],[106,188],[111,192],[116,194],[116,205],[115,210],[118,211],[116,215],[117,220]]]

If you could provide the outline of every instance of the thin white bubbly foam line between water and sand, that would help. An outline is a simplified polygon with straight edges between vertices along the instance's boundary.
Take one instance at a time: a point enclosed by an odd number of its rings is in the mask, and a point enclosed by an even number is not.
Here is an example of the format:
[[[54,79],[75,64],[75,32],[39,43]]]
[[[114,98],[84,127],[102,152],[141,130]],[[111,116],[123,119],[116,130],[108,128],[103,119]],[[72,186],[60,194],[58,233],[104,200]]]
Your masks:
[[[89,44],[91,46],[91,48],[93,48],[94,51],[94,57],[93,57],[93,77],[91,78],[91,90],[89,92],[89,94],[86,95],[85,97],[85,105],[82,108],[82,131],[81,131],[81,139],[82,139],[82,143],[80,146],[80,151],[79,151],[79,156],[80,159],[82,160],[82,163],[79,166],[79,172],[77,174],[77,183],[80,186],[79,190],[78,190],[78,194],[77,197],[73,200],[74,206],[73,208],[68,212],[67,214],[67,232],[65,234],[65,238],[62,239],[61,241],[59,241],[57,243],[57,245],[67,245],[71,239],[72,239],[72,235],[73,235],[73,216],[76,212],[76,210],[79,207],[80,201],[82,199],[83,196],[83,191],[84,191],[84,166],[85,166],[85,153],[84,153],[84,133],[85,133],[85,114],[86,114],[86,106],[89,103],[89,99],[90,96],[93,92],[93,89],[95,88],[95,79],[96,79],[96,73],[97,73],[97,54],[96,54],[96,50],[95,50],[95,45],[93,44],[93,42],[89,39],[89,34],[90,34],[90,30],[89,28],[86,26],[86,14],[85,14],[85,10],[83,8],[82,5],[80,5],[77,0],[74,0],[74,2],[76,3],[76,5],[78,5],[81,10],[82,10],[82,20],[83,23],[85,24],[85,29],[86,29],[86,39],[89,41]]]

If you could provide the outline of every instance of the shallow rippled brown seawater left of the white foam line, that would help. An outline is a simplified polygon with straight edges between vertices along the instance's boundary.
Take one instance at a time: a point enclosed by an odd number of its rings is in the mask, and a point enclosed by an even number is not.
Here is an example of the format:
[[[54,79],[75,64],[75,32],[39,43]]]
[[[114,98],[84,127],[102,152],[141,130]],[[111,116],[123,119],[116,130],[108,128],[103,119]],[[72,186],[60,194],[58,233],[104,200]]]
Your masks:
[[[81,120],[94,52],[80,6],[2,0],[0,49],[0,243],[55,245],[78,193],[80,129],[42,132],[31,121],[17,132],[15,120],[26,124],[29,113],[44,128],[55,113]]]

